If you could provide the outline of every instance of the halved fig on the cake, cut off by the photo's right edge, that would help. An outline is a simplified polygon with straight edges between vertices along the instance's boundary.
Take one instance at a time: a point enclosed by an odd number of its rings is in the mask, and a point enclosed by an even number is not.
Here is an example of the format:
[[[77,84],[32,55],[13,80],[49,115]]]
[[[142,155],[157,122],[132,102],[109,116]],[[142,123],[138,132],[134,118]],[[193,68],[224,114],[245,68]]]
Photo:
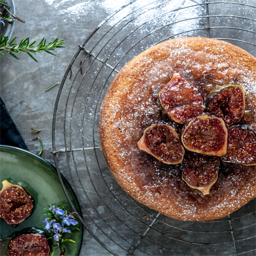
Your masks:
[[[255,133],[238,126],[230,127],[227,154],[221,158],[223,162],[256,165]]]

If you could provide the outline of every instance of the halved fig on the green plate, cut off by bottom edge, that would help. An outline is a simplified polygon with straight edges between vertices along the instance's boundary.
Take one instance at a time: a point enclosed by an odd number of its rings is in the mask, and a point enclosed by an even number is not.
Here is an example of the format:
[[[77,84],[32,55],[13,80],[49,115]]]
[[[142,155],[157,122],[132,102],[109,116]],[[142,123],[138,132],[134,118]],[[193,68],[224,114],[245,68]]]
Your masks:
[[[23,234],[10,241],[9,256],[48,256],[50,247],[45,236],[40,233]]]

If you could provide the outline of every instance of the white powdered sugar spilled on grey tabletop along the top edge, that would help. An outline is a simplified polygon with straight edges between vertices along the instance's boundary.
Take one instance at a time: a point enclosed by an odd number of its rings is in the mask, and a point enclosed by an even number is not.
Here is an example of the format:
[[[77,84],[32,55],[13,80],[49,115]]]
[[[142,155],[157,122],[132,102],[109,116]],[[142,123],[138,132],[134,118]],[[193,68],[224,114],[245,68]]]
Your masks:
[[[114,26],[121,22],[127,15],[130,17],[136,16],[134,25],[140,26],[145,22],[149,22],[150,26],[160,26],[170,23],[174,20],[172,30],[177,34],[184,30],[195,29],[200,19],[197,17],[203,16],[204,7],[197,6],[195,8],[186,8],[188,6],[203,3],[203,0],[172,0],[168,3],[165,1],[157,2],[155,0],[138,0],[131,3],[130,0],[103,0],[93,3],[92,1],[78,1],[78,0],[44,0],[46,4],[58,12],[58,15],[63,15],[73,21],[85,20],[89,13],[93,13],[96,19],[100,17],[100,11],[105,11],[107,15],[112,15],[117,10],[120,10],[109,19],[108,24]],[[80,3],[79,3],[80,2]],[[129,4],[130,3],[130,4]],[[184,9],[185,8],[185,9]],[[177,9],[182,9],[175,11]],[[175,11],[175,12],[174,12]],[[182,17],[190,18],[190,22],[184,24],[181,22]],[[100,20],[99,20],[100,21]]]

